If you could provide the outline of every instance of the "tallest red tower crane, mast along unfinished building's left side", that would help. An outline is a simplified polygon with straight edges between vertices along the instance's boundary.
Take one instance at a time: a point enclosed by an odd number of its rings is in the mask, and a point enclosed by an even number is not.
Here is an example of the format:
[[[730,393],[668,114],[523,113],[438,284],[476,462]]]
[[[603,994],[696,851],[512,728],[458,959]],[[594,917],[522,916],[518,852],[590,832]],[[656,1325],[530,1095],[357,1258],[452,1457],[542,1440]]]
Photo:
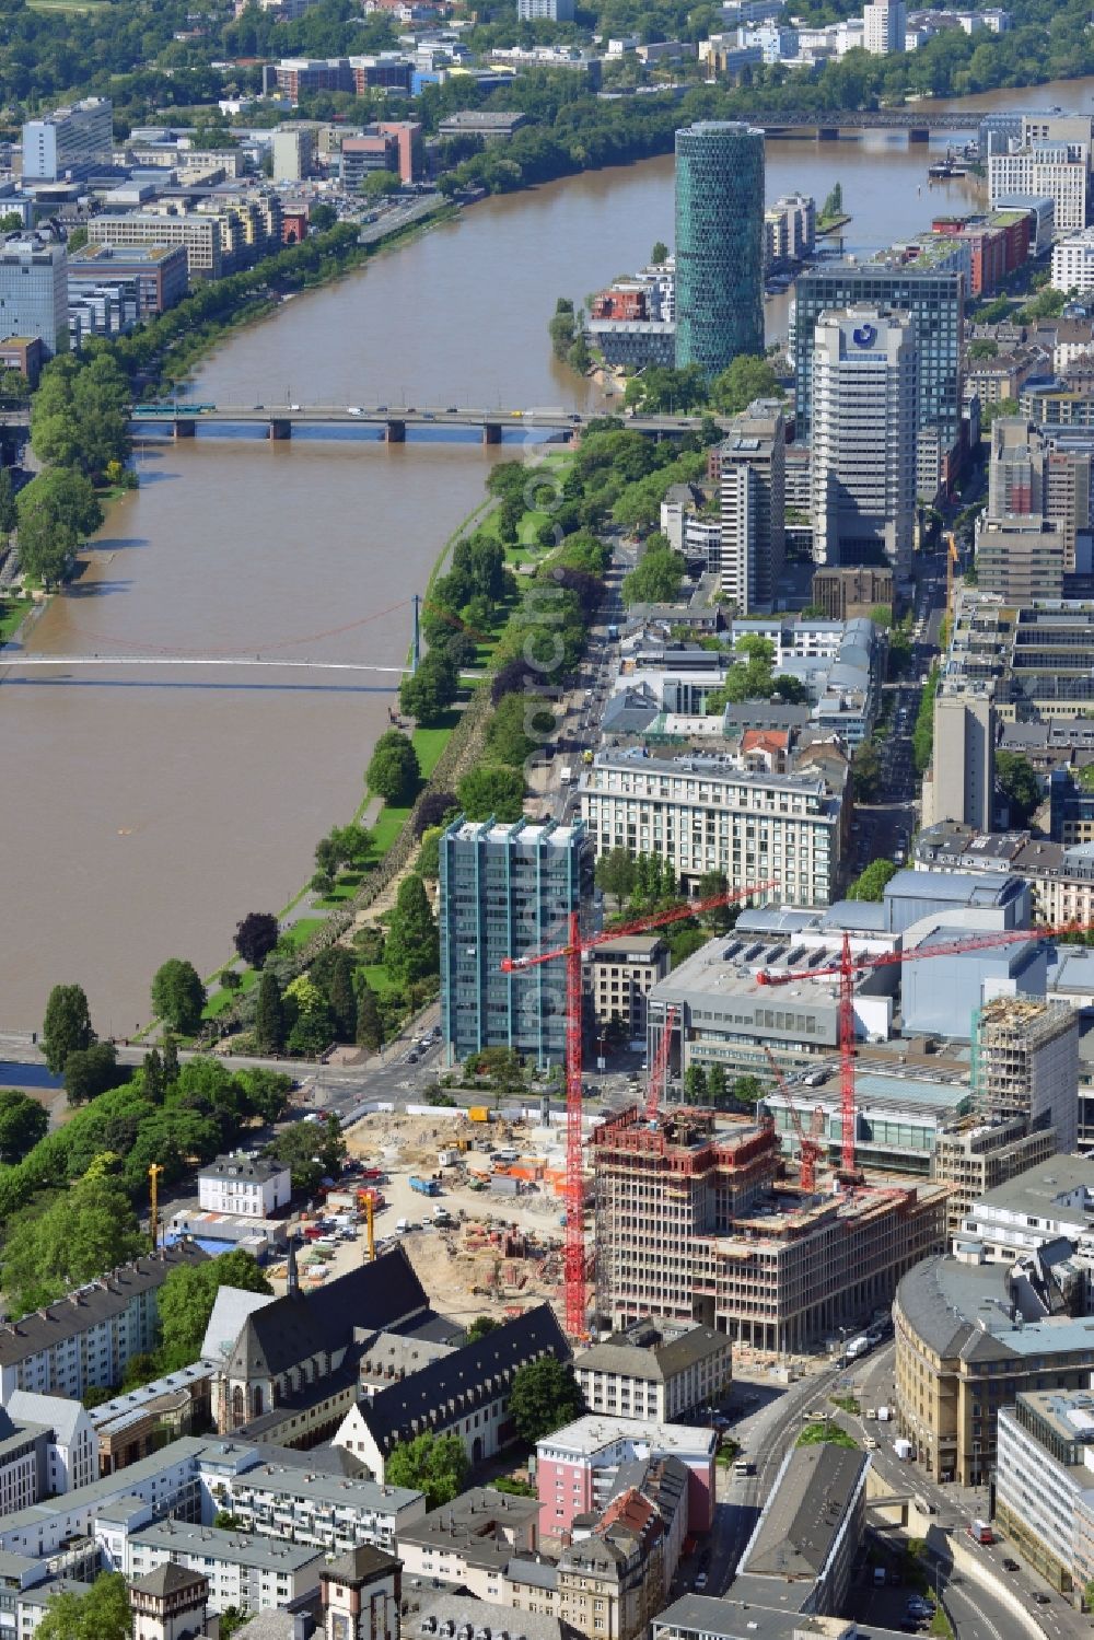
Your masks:
[[[566,1243],[563,1253],[563,1286],[566,1294],[566,1332],[571,1338],[579,1338],[586,1330],[586,1202],[582,1192],[581,1166],[581,959],[586,951],[594,951],[609,940],[625,940],[631,933],[650,933],[651,928],[666,928],[674,922],[686,922],[702,912],[717,910],[720,905],[732,905],[735,900],[751,899],[753,894],[766,894],[777,889],[776,881],[754,882],[746,889],[733,889],[730,894],[715,894],[709,900],[691,900],[687,905],[674,905],[668,912],[654,912],[653,917],[641,917],[627,923],[625,928],[605,928],[582,938],[577,912],[569,913],[569,938],[566,945],[553,951],[536,951],[530,956],[507,956],[502,961],[502,973],[515,974],[526,968],[538,968],[541,963],[566,959]]]

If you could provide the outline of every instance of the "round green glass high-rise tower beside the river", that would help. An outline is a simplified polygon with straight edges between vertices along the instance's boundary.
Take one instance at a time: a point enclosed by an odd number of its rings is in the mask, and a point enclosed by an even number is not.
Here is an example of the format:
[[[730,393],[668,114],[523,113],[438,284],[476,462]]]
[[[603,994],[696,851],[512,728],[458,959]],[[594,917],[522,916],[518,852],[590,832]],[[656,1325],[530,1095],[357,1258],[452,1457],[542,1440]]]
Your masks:
[[[676,367],[717,376],[764,351],[764,138],[738,121],[676,133]]]

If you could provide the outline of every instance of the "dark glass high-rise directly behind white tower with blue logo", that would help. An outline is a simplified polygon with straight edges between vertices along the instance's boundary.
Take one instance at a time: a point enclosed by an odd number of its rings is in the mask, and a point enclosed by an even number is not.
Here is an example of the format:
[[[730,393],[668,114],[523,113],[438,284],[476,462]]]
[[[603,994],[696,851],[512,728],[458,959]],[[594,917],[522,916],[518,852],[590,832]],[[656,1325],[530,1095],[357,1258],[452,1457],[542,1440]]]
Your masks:
[[[825,310],[877,307],[909,313],[919,351],[917,433],[935,433],[940,459],[961,435],[961,276],[897,262],[835,262],[799,276],[794,295],[794,385],[799,443],[812,443],[814,348]]]

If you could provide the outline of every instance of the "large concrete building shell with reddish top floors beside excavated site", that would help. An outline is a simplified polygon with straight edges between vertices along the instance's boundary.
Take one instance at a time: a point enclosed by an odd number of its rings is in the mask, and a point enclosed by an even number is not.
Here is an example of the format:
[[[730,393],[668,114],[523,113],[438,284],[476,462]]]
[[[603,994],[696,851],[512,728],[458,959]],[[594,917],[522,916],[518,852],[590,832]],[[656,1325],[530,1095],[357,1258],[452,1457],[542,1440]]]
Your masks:
[[[892,1301],[900,1276],[945,1245],[933,1182],[804,1196],[781,1182],[771,1125],[636,1110],[592,1135],[597,1312],[699,1320],[789,1353]]]

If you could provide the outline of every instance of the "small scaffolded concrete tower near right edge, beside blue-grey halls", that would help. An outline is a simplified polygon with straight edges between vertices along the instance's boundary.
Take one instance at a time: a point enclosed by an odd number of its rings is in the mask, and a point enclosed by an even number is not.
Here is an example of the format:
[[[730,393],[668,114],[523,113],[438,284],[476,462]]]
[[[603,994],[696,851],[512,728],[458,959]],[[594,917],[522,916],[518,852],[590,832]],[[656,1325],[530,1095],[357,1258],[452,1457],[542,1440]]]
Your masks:
[[[1025,1118],[1056,1130],[1056,1150],[1078,1143],[1079,1015],[1064,1002],[997,997],[973,1017],[973,1097],[992,1122]]]

